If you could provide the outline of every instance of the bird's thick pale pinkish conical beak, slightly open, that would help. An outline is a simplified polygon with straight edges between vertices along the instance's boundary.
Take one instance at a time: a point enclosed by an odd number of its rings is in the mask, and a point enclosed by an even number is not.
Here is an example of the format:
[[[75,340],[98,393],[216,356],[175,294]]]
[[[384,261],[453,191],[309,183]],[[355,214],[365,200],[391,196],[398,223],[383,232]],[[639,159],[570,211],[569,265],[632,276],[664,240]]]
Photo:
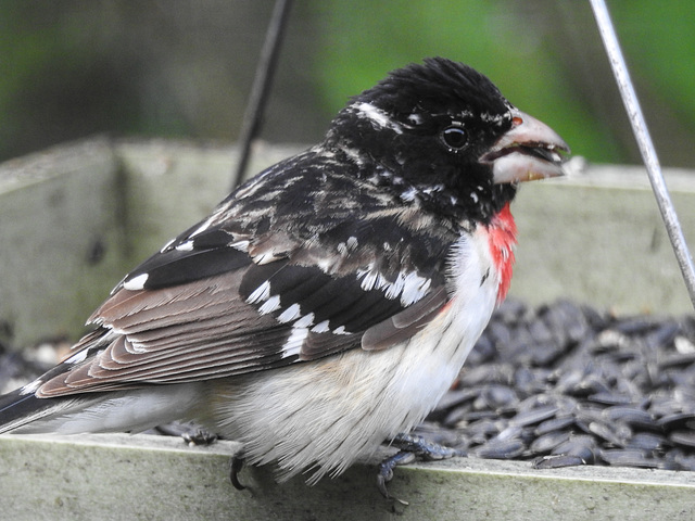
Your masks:
[[[528,114],[513,110],[511,128],[480,157],[492,167],[495,183],[521,182],[565,175],[569,147],[555,130]]]

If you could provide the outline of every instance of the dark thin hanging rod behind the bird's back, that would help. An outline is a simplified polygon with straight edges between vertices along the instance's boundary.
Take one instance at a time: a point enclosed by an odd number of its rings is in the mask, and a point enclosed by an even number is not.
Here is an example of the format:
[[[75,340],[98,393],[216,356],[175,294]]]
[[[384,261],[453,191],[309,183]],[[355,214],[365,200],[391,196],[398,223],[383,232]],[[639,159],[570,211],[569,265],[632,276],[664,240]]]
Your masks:
[[[261,50],[258,65],[256,66],[256,74],[253,78],[253,86],[251,87],[251,93],[249,94],[249,103],[241,124],[241,132],[239,136],[239,161],[237,162],[237,168],[231,180],[232,190],[237,188],[239,182],[243,179],[249,157],[251,155],[251,143],[261,129],[261,118],[265,111],[268,92],[270,91],[270,84],[273,82],[273,76],[277,68],[280,45],[282,42],[291,7],[292,0],[277,0],[275,2],[275,8],[273,9],[270,23],[268,24],[263,49]]]

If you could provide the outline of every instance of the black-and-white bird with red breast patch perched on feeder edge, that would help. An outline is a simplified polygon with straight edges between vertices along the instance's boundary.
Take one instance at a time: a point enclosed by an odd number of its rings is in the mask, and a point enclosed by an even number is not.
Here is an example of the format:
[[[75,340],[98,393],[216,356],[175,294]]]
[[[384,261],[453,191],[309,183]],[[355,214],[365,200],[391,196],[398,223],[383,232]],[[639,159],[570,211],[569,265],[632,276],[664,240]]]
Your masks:
[[[384,443],[426,453],[408,433],[509,290],[519,185],[568,154],[470,66],[394,69],[125,276],[59,365],[0,397],[0,433],[194,420],[243,444],[238,487],[242,461],[314,484]]]

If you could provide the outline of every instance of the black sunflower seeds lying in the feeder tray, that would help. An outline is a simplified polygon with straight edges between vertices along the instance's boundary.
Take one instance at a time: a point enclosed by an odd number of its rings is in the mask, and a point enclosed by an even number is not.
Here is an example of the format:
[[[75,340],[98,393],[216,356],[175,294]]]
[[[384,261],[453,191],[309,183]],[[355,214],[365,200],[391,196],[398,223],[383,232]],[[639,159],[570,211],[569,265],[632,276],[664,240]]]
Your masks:
[[[0,390],[55,361],[0,345]],[[471,457],[539,468],[695,470],[695,317],[615,317],[569,301],[508,300],[455,389],[416,431]],[[190,428],[162,432],[189,435]]]

